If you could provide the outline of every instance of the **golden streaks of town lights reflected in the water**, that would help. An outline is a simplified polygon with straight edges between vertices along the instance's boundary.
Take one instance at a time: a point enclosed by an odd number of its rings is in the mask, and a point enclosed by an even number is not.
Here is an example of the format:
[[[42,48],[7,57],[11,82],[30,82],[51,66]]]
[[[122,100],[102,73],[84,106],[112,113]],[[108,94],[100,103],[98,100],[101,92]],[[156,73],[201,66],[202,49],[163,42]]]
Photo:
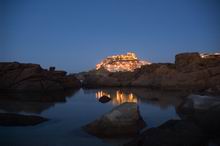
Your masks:
[[[103,96],[107,96],[111,98],[112,104],[113,105],[119,105],[124,102],[138,102],[137,96],[135,96],[133,93],[125,93],[121,90],[117,90],[116,92],[113,93],[108,93],[106,91],[97,91],[96,92],[96,98],[99,100]]]

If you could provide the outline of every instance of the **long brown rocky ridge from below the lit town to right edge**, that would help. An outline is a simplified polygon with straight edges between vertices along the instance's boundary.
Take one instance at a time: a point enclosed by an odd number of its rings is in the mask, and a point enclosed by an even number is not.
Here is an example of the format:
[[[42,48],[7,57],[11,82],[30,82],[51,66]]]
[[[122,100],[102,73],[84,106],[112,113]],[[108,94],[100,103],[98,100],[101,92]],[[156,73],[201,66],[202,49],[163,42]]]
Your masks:
[[[148,87],[166,90],[220,92],[220,55],[182,53],[175,63],[153,63],[134,72],[109,72],[104,68],[77,74],[83,87]]]

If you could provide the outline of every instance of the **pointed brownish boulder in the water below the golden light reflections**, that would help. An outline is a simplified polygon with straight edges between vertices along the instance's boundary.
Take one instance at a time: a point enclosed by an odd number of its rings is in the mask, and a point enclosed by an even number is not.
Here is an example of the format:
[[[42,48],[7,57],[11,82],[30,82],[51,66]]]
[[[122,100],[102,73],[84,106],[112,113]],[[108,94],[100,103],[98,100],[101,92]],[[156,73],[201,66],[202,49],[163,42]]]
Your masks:
[[[119,138],[137,135],[145,125],[137,104],[124,103],[84,126],[83,129],[97,137]]]

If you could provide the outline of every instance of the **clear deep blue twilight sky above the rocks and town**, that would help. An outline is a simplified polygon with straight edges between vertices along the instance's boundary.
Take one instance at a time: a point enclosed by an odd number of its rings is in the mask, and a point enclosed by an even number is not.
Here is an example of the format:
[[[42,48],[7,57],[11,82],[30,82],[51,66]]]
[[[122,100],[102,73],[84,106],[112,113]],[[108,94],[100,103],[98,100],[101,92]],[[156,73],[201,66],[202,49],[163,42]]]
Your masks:
[[[80,72],[127,51],[220,52],[220,0],[0,0],[0,61]]]

